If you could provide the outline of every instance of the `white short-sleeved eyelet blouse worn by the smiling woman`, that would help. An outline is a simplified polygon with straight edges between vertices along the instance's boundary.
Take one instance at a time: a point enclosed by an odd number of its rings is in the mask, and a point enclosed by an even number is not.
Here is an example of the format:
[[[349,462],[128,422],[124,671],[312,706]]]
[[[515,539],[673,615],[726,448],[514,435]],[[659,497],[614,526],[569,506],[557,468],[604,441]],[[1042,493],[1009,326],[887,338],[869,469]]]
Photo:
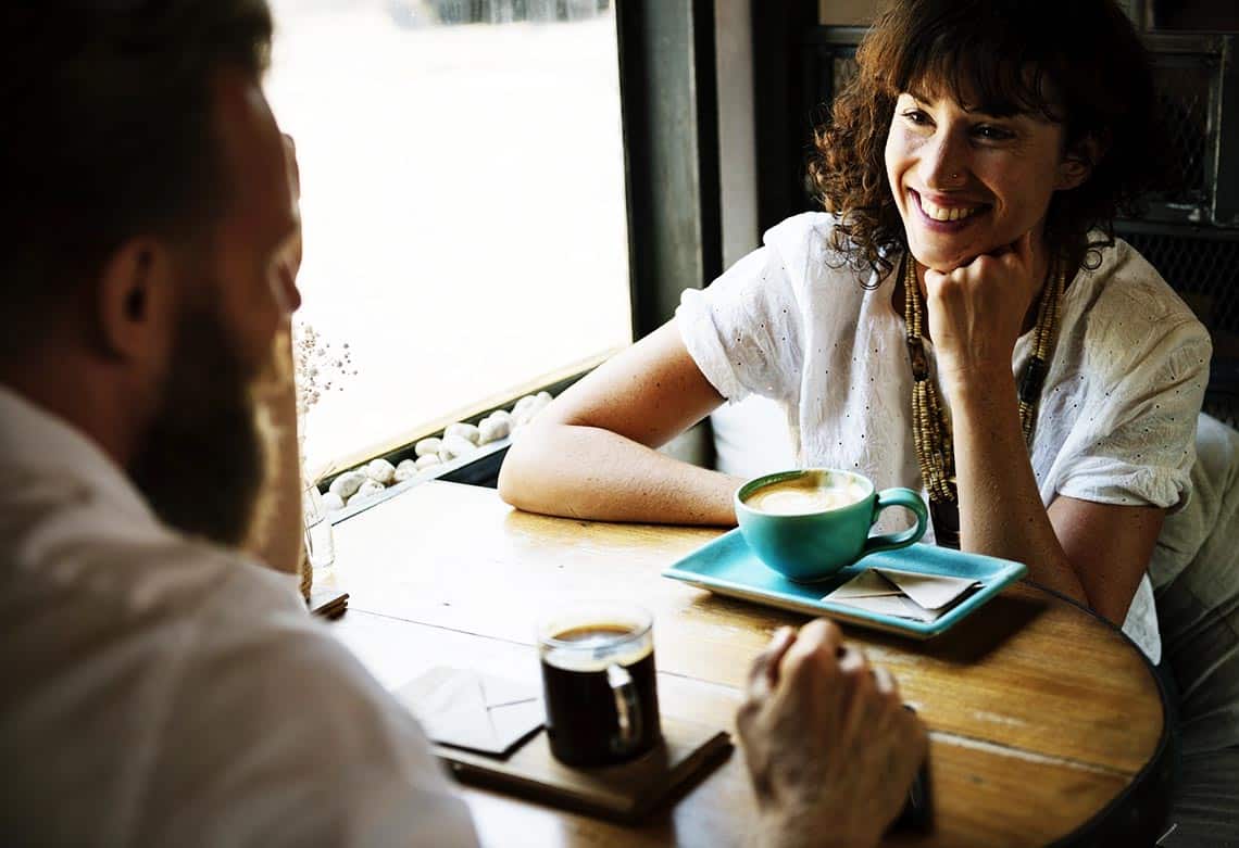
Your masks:
[[[896,275],[859,277],[829,248],[834,223],[834,215],[807,213],[772,228],[762,248],[707,288],[685,291],[676,323],[724,397],[756,394],[783,407],[802,465],[846,468],[878,488],[923,490],[904,326],[891,303]],[[1059,328],[1032,449],[1042,501],[1068,495],[1181,508],[1208,381],[1204,327],[1119,240],[1101,251],[1099,267],[1070,281]],[[929,342],[926,350],[933,369]],[[1017,376],[1031,352],[1026,333],[1012,355]],[[1123,629],[1160,661],[1147,574]]]

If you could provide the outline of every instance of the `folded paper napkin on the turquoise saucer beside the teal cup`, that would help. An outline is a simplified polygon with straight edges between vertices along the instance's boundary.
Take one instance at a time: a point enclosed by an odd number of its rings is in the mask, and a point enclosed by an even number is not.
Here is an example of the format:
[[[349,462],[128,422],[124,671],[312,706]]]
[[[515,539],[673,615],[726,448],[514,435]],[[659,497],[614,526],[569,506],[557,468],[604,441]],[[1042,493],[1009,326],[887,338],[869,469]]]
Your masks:
[[[950,612],[979,586],[979,581],[966,577],[866,568],[823,600],[928,624]]]

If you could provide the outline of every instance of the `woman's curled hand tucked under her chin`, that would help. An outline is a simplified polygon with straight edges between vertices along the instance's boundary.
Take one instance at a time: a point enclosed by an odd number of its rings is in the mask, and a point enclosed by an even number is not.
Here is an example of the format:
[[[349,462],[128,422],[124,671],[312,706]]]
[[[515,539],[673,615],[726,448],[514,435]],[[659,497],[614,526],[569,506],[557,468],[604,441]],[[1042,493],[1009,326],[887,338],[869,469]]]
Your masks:
[[[1040,290],[1032,231],[953,271],[926,269],[938,376],[952,386],[1011,376],[1011,354]]]

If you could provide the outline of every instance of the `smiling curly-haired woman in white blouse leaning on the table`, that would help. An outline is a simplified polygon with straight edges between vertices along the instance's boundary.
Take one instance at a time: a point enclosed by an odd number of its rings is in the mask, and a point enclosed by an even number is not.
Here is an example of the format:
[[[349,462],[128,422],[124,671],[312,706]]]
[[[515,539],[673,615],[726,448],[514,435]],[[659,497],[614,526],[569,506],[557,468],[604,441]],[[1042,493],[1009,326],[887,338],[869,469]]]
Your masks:
[[[1211,349],[1113,236],[1163,156],[1139,40],[1111,0],[904,0],[857,61],[812,167],[831,212],[774,227],[565,392],[501,493],[730,525],[738,480],[653,448],[764,395],[802,464],[926,487],[940,541],[1026,562],[1157,662],[1146,569],[1188,496]]]

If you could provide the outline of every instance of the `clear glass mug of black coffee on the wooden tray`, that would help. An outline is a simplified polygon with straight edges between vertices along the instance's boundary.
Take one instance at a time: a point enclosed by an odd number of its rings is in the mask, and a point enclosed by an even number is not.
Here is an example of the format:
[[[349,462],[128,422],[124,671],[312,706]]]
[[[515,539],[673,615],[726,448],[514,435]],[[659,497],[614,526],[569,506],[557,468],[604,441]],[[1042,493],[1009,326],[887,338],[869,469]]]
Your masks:
[[[611,765],[662,740],[648,612],[600,602],[553,614],[538,628],[538,652],[556,760]]]

